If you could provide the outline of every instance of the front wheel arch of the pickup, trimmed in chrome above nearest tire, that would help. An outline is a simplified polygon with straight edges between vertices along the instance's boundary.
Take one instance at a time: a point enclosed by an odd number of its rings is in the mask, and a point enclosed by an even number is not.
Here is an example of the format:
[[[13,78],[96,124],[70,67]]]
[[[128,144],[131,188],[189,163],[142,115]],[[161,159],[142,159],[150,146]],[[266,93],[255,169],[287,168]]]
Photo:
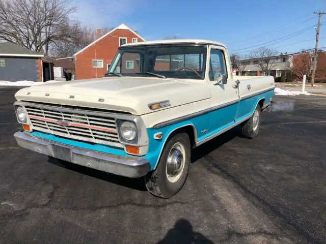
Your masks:
[[[176,127],[174,128],[173,130],[171,130],[168,134],[168,136],[166,137],[166,139],[164,140],[163,144],[162,144],[162,147],[161,147],[161,150],[159,152],[159,155],[158,155],[158,158],[157,158],[157,161],[156,161],[156,164],[153,168],[156,169],[157,167],[157,164],[161,158],[161,155],[162,155],[162,152],[163,152],[163,149],[165,148],[167,142],[169,141],[169,139],[171,137],[173,137],[174,135],[176,135],[177,133],[180,133],[180,132],[185,132],[188,134],[189,136],[189,140],[190,140],[190,144],[191,144],[191,147],[195,147],[196,146],[196,142],[197,142],[197,132],[196,132],[196,128],[194,126],[194,124],[186,124],[186,125],[182,125],[180,127]]]

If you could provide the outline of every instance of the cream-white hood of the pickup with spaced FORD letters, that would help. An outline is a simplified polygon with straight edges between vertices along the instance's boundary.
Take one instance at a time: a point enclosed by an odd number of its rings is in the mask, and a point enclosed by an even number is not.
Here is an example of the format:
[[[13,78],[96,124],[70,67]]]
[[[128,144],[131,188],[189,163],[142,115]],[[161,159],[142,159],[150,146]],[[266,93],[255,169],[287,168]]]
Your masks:
[[[26,87],[20,89],[15,98],[18,101],[100,108],[142,115],[152,112],[148,107],[150,103],[170,100],[171,106],[161,108],[169,109],[209,99],[210,92],[203,80],[103,77]]]

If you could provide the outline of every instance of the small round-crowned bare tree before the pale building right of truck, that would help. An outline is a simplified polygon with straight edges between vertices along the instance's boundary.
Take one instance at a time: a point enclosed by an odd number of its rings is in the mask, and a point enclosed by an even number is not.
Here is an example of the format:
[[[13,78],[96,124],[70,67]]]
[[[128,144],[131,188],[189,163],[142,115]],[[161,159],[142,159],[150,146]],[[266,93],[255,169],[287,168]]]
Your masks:
[[[271,70],[275,69],[275,58],[270,58],[278,53],[276,49],[261,47],[250,54],[250,58],[253,59],[254,64],[261,69],[261,71],[268,74]]]

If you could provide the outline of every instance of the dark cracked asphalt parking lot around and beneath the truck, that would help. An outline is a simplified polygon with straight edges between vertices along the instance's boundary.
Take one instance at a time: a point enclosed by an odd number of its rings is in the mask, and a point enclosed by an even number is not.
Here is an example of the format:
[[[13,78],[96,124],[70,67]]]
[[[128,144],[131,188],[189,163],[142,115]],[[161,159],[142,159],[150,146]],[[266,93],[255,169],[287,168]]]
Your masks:
[[[326,98],[275,97],[259,136],[231,130],[193,151],[183,189],[68,168],[19,148],[0,87],[0,243],[325,243]]]

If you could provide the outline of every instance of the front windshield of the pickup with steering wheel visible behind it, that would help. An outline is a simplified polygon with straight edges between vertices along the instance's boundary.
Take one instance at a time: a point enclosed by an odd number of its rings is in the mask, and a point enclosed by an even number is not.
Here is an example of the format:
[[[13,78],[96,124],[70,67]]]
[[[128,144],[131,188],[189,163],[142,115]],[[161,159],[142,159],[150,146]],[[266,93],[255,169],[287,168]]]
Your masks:
[[[120,48],[105,76],[154,76],[203,79],[204,45],[160,45]]]

